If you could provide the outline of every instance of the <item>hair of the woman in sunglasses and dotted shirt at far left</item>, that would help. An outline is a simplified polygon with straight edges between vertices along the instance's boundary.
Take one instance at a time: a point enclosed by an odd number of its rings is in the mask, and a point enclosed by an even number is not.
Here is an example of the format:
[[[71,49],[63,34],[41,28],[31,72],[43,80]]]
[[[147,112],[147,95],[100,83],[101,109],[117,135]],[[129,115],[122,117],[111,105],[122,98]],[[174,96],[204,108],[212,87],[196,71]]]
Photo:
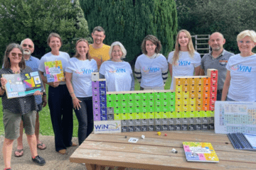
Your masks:
[[[11,61],[9,59],[9,55],[10,55],[11,50],[14,50],[14,48],[18,48],[19,50],[21,50],[22,58],[21,58],[21,62],[18,63],[18,67],[20,67],[21,69],[25,69],[26,64],[25,64],[25,60],[23,57],[23,49],[22,49],[21,45],[18,45],[16,43],[11,43],[6,47],[6,51],[4,52],[4,68],[5,69],[11,68]]]

